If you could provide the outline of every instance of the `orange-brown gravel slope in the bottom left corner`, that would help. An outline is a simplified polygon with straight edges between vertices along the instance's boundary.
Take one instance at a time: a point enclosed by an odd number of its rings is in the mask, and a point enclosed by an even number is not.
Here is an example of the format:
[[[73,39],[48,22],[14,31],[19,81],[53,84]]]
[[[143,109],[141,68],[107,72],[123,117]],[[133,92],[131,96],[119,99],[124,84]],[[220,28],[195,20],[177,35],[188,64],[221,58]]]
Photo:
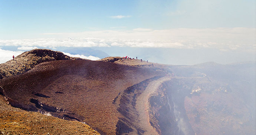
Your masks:
[[[8,105],[0,95],[0,135],[98,135],[90,126]]]

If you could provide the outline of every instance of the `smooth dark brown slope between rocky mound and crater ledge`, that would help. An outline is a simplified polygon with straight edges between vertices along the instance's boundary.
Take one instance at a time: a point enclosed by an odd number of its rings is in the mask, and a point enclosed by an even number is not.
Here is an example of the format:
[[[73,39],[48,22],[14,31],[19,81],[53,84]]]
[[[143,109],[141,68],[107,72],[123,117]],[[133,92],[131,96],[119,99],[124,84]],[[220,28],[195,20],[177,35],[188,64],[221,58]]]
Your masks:
[[[85,122],[101,134],[115,134],[122,92],[161,71],[89,60],[59,60],[1,81],[8,102],[27,111]]]

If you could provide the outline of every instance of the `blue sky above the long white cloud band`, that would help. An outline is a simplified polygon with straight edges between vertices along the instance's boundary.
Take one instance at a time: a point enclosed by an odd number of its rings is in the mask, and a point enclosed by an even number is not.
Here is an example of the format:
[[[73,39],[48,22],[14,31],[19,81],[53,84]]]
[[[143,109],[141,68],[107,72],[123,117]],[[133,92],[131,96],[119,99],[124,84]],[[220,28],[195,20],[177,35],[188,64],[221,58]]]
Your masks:
[[[1,0],[1,38],[151,28],[255,27],[255,0]],[[129,16],[111,18],[111,16]],[[115,28],[113,28],[115,27]]]

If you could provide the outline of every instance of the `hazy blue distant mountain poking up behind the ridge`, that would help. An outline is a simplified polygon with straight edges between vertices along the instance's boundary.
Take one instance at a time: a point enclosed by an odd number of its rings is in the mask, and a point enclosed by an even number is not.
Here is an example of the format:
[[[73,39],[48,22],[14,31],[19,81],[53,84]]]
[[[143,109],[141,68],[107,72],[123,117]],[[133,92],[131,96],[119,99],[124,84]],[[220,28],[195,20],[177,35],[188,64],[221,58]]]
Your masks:
[[[70,49],[63,50],[63,52],[70,53],[73,55],[76,55],[76,54],[85,55],[85,56],[92,55],[92,56],[99,57],[99,58],[109,57],[109,55],[106,54],[104,51],[93,50],[92,48],[89,48],[89,47],[70,48]]]

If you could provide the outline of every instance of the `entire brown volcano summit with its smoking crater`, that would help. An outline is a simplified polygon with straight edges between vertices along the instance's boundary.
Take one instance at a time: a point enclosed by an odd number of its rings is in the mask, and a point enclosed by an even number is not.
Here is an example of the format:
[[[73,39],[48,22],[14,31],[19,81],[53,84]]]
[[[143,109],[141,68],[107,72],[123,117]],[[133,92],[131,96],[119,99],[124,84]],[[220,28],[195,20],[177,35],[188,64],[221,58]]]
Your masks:
[[[35,49],[0,67],[0,130],[5,134],[27,133],[24,127],[33,134],[255,134],[251,63],[91,61]],[[26,117],[20,120],[23,126],[9,126],[29,113],[56,120],[40,125]]]

